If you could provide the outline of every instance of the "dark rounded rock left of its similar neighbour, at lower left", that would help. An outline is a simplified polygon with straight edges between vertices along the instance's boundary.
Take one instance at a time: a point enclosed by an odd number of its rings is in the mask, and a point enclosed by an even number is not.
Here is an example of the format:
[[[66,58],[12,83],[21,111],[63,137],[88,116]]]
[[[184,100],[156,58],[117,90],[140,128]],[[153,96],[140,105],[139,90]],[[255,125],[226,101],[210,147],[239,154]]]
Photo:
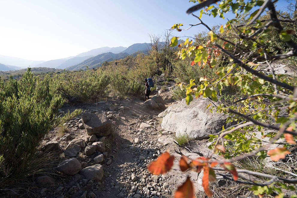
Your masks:
[[[69,158],[67,160],[62,161],[57,170],[59,172],[65,173],[66,175],[75,175],[82,168],[82,164],[76,158]]]

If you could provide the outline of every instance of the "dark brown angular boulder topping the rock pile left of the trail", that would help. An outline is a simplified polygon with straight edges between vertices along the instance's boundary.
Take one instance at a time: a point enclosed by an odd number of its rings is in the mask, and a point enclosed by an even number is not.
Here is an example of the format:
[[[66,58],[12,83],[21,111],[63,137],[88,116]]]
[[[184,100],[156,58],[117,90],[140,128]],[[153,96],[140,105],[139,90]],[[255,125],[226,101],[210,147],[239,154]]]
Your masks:
[[[107,136],[111,131],[111,121],[105,114],[82,114],[82,121],[88,135],[96,134],[97,137]]]

